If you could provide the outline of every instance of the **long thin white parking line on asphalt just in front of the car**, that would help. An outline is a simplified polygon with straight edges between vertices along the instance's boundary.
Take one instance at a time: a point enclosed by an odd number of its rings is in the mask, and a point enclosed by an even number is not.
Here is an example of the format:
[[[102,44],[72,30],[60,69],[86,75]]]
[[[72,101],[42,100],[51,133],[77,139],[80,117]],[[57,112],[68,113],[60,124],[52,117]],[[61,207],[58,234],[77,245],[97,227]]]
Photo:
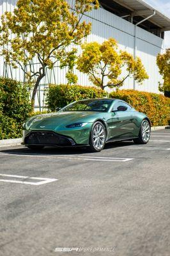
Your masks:
[[[133,160],[133,158],[125,157],[97,157],[97,156],[72,156],[72,155],[62,155],[62,156],[47,156],[43,154],[25,154],[25,153],[1,153],[0,156],[26,156],[26,157],[44,157],[44,158],[55,158],[55,159],[72,159],[72,160],[89,160],[89,161],[108,161],[108,162],[127,162]]]

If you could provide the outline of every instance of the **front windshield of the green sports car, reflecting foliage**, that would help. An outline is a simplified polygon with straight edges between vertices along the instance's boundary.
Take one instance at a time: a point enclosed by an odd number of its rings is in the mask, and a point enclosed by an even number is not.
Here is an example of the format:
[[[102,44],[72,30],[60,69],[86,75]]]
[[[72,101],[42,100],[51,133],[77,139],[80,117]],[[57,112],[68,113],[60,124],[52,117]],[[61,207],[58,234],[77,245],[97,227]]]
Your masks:
[[[79,100],[61,109],[61,111],[99,111],[107,112],[112,100]]]

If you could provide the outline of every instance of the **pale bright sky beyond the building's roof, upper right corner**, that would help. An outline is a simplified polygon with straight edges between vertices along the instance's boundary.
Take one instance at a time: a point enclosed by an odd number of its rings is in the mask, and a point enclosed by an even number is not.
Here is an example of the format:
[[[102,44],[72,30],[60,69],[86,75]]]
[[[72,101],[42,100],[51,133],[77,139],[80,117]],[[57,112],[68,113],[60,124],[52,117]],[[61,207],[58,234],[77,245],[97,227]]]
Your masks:
[[[170,19],[170,0],[144,0],[155,7],[159,12],[164,13]],[[170,31],[165,33],[165,47],[170,48]]]

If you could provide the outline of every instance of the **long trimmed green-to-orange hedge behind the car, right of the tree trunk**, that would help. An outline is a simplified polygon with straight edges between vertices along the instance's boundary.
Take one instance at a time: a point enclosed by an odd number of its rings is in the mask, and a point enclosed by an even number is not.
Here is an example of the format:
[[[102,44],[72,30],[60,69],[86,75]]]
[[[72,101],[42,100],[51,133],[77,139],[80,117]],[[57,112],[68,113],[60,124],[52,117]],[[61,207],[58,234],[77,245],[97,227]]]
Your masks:
[[[95,87],[50,84],[47,93],[47,108],[50,111],[55,111],[57,107],[63,108],[75,100],[102,97],[107,97],[107,92]],[[110,93],[109,97],[125,100],[137,111],[145,113],[153,126],[169,124],[170,99],[164,95],[135,90],[119,90]]]

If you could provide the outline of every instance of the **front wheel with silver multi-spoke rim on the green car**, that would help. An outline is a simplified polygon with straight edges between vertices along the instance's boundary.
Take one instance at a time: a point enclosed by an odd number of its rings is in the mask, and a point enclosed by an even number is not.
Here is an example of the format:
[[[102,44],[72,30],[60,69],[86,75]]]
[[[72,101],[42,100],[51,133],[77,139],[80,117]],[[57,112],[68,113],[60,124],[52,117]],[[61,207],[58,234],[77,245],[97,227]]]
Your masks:
[[[106,130],[102,122],[95,122],[91,127],[89,136],[89,149],[91,152],[100,152],[105,146]]]

